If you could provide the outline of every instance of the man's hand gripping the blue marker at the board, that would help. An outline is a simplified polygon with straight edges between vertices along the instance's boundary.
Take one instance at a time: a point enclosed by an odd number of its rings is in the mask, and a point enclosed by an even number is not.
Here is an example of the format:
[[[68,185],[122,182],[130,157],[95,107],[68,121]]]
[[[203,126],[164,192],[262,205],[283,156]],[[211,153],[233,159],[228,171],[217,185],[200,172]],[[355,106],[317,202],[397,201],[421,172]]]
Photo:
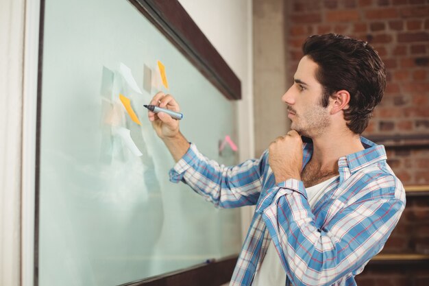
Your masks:
[[[154,98],[152,98],[150,104],[176,112],[180,111],[179,104],[177,104],[175,99],[171,95],[165,95],[162,92],[157,93]],[[149,110],[149,121],[151,121],[152,126],[154,126],[156,134],[163,140],[171,139],[179,134],[179,121],[173,119],[170,115],[167,115],[167,113],[155,113]]]

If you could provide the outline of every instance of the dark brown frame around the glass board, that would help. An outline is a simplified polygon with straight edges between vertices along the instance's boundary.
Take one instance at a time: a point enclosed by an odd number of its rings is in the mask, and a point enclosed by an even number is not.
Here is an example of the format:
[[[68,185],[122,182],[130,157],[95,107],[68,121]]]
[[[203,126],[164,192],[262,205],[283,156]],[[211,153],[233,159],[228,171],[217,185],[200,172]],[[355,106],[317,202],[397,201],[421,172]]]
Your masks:
[[[176,0],[129,0],[151,23],[166,36],[191,63],[201,71],[228,99],[241,99],[241,82],[220,54],[210,44],[201,30]],[[38,98],[36,121],[36,207],[34,235],[34,285],[38,285],[38,235],[39,235],[39,185],[40,185],[40,126],[42,101],[42,55],[45,0],[40,1],[40,34],[38,64]],[[210,261],[208,265],[197,265],[188,270],[180,270],[156,278],[145,279],[127,285],[161,285],[162,281],[179,283],[188,281],[187,285],[218,285],[229,281],[236,257],[227,257],[220,261]],[[213,271],[217,269],[217,271]],[[176,278],[173,278],[176,277]],[[155,282],[158,281],[158,282]],[[174,282],[176,281],[176,282]],[[155,284],[154,284],[155,283]],[[215,284],[214,284],[215,283]]]

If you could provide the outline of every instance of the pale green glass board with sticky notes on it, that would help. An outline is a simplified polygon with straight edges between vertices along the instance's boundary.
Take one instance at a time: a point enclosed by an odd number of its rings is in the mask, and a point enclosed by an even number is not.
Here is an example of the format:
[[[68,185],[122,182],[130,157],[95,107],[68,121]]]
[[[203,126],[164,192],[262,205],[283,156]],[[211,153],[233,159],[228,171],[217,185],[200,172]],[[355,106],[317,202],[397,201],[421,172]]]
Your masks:
[[[169,182],[173,158],[143,107],[171,93],[186,138],[234,165],[219,154],[236,139],[234,102],[124,0],[46,0],[42,61],[38,285],[119,285],[239,252],[239,211]]]

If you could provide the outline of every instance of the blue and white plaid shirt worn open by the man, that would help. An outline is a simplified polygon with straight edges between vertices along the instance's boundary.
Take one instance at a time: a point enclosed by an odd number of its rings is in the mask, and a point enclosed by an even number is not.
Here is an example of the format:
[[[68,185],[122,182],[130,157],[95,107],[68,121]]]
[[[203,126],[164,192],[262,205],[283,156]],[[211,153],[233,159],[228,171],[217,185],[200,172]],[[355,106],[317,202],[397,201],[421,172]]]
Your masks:
[[[172,182],[182,180],[219,208],[256,204],[230,286],[252,285],[271,239],[285,285],[356,285],[354,276],[382,250],[405,207],[384,146],[361,141],[365,150],[339,158],[339,178],[314,208],[302,181],[275,183],[267,151],[225,167],[191,144],[171,169]],[[312,144],[304,143],[303,166],[311,156]]]

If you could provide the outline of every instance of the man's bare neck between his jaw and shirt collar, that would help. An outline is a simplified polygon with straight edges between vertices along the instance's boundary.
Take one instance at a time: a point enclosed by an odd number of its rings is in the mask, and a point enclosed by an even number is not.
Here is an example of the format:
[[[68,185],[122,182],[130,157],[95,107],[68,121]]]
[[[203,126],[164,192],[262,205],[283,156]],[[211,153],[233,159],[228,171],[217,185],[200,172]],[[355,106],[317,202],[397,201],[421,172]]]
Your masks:
[[[312,165],[321,170],[338,170],[339,158],[364,150],[360,136],[352,133],[325,132],[312,139]]]

